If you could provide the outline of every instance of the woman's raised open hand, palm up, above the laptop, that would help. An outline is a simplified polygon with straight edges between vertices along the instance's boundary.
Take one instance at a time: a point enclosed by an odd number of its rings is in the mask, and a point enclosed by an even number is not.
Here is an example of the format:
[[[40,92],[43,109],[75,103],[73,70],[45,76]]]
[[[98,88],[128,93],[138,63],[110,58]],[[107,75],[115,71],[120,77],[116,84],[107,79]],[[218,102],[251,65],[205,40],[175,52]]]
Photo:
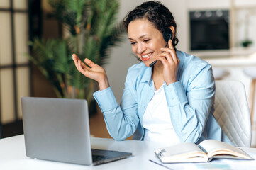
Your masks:
[[[100,90],[108,88],[108,77],[104,68],[100,67],[87,58],[84,59],[84,62],[82,62],[75,54],[72,55],[72,58],[74,60],[75,66],[77,67],[77,70],[84,74],[85,77],[97,81]]]

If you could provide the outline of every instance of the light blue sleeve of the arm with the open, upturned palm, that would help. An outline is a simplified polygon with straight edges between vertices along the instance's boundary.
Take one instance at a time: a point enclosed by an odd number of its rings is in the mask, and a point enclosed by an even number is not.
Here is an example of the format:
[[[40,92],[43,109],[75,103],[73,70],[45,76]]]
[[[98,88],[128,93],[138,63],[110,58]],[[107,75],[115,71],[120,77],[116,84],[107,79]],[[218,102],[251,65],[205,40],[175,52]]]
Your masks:
[[[94,98],[101,108],[106,128],[113,139],[125,140],[133,135],[137,129],[139,118],[137,101],[128,89],[127,83],[125,83],[125,89],[123,90],[121,106],[116,102],[111,87],[103,91],[96,91]]]

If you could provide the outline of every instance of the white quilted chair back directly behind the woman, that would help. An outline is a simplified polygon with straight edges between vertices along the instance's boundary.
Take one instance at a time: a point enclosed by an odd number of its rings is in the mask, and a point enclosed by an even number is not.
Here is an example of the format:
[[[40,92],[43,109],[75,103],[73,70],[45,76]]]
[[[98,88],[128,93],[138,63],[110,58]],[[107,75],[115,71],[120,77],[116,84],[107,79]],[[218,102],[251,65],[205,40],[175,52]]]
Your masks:
[[[250,147],[250,111],[240,81],[216,81],[214,117],[236,147]]]

